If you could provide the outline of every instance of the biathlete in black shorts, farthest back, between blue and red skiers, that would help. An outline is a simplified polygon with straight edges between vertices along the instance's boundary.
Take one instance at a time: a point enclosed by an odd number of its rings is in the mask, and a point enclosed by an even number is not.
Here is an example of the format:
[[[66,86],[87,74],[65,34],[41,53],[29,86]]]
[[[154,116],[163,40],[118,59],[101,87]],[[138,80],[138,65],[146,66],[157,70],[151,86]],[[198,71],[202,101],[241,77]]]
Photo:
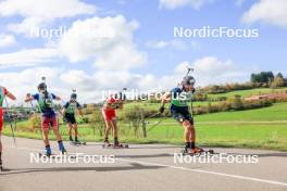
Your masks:
[[[75,144],[80,144],[80,141],[78,140],[78,126],[75,117],[75,113],[77,110],[82,118],[84,118],[82,113],[82,105],[77,102],[77,94],[73,92],[71,94],[70,101],[64,104],[64,109],[62,111],[63,120],[67,124],[70,141]],[[75,140],[73,140],[72,137],[72,129],[74,129],[75,131]]]

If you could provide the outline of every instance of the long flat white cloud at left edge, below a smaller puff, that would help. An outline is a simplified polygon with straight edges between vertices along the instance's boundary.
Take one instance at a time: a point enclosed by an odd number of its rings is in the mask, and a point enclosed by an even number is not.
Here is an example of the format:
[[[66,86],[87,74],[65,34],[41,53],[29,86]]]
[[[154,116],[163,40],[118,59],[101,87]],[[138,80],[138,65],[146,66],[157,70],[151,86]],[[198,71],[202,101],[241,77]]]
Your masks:
[[[0,67],[43,64],[57,56],[59,51],[55,49],[24,49],[0,54]]]

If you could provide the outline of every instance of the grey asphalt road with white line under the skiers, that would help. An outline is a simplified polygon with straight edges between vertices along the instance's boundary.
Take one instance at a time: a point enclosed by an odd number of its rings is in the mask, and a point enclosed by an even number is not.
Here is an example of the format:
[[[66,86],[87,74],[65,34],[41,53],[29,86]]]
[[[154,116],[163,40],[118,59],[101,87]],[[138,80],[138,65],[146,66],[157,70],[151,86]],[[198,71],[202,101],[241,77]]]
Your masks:
[[[226,160],[189,163],[187,156],[179,164],[179,157],[174,154],[180,148],[174,145],[129,144],[129,149],[102,149],[100,143],[73,147],[65,142],[68,153],[77,154],[76,158],[66,163],[55,163],[59,162],[55,158],[36,163],[42,141],[17,138],[17,147],[11,138],[2,137],[2,141],[4,170],[0,173],[0,191],[287,191],[287,153],[284,152],[216,148],[216,153],[226,153],[229,158],[248,158],[249,163]],[[51,145],[58,152],[57,143]],[[252,161],[251,156],[258,160]]]

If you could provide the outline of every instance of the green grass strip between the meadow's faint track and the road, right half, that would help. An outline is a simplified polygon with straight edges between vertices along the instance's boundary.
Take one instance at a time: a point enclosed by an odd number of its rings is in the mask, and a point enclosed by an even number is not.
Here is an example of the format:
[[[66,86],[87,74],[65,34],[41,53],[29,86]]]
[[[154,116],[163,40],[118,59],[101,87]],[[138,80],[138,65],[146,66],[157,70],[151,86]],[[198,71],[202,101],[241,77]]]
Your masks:
[[[201,145],[255,148],[287,151],[287,124],[284,125],[197,125],[197,140]],[[150,139],[180,143],[183,128],[159,125],[150,131]]]

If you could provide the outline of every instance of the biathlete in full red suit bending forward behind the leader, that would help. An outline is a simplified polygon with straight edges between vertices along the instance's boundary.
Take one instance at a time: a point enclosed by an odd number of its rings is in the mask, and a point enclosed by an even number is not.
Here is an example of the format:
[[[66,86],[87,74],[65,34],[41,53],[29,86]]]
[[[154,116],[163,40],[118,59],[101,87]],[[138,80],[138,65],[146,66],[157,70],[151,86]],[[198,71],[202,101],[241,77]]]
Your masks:
[[[122,92],[109,96],[102,107],[102,116],[105,122],[105,131],[104,131],[104,142],[103,148],[113,145],[114,148],[121,148],[123,144],[120,144],[117,140],[117,124],[116,124],[116,110],[123,109],[123,94]],[[113,129],[114,144],[109,142],[109,132]]]

